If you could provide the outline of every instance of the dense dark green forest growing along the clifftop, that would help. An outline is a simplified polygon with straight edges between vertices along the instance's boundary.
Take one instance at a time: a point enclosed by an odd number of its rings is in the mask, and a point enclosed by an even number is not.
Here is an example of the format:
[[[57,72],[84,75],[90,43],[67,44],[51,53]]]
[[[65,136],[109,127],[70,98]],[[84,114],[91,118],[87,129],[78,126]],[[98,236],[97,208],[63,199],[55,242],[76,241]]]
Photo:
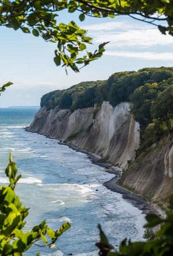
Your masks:
[[[41,107],[59,106],[72,112],[98,107],[103,101],[116,106],[132,103],[131,112],[140,124],[141,149],[173,131],[173,68],[144,68],[117,72],[106,81],[82,82],[66,90],[56,90],[41,98]]]

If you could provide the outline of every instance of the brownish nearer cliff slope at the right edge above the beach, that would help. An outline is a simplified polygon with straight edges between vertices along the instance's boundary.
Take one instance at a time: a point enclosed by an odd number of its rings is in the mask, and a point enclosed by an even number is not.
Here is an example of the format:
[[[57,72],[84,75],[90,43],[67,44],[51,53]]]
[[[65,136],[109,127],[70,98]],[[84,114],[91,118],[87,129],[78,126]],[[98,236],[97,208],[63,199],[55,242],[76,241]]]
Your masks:
[[[167,206],[169,195],[173,194],[173,136],[161,139],[137,157],[119,184]]]

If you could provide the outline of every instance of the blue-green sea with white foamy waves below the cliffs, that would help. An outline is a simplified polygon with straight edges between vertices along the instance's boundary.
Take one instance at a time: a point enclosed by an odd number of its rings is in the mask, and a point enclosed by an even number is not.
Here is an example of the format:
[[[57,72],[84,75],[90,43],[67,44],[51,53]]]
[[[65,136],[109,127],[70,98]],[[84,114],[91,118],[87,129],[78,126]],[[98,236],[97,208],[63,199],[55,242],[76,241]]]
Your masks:
[[[22,174],[16,192],[30,207],[25,230],[45,218],[52,228],[64,221],[72,223],[57,247],[41,249],[41,255],[97,256],[98,223],[114,246],[125,237],[141,240],[145,216],[102,185],[112,174],[57,140],[24,130],[37,110],[0,109],[0,185],[8,183],[4,168],[12,152]],[[37,251],[33,246],[25,255],[34,256]]]

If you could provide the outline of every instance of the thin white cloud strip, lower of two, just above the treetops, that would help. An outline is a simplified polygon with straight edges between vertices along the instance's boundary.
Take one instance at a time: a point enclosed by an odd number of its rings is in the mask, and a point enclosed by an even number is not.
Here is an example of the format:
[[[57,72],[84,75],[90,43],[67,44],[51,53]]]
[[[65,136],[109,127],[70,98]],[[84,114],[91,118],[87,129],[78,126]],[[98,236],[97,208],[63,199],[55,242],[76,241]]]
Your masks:
[[[116,57],[126,57],[126,58],[139,58],[146,60],[162,60],[168,61],[173,60],[173,53],[156,53],[156,52],[130,52],[130,51],[106,51],[105,55],[116,56]]]

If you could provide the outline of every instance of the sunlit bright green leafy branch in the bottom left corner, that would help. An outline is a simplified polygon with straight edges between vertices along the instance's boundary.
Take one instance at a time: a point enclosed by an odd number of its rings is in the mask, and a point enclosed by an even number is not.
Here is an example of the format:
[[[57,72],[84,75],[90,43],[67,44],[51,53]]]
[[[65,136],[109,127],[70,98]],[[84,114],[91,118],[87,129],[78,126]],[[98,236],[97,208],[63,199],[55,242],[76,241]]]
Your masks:
[[[54,247],[62,233],[71,227],[65,222],[60,228],[53,230],[44,220],[32,230],[23,231],[29,209],[22,206],[14,191],[15,185],[21,178],[21,175],[16,177],[17,171],[10,154],[9,164],[5,170],[10,184],[0,187],[0,255],[2,256],[22,256],[33,244],[39,247]],[[43,245],[37,244],[40,240],[43,241]]]

